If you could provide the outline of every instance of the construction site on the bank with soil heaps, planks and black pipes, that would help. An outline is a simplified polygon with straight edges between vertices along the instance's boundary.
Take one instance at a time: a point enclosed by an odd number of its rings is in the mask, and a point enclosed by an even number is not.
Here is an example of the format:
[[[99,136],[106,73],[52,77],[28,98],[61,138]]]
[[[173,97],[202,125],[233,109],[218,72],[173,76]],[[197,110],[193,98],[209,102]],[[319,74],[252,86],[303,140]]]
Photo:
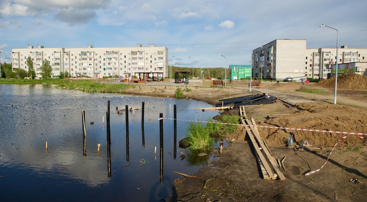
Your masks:
[[[334,81],[193,89],[188,97],[239,116],[239,127],[166,201],[366,201],[367,77],[338,76],[337,104]]]

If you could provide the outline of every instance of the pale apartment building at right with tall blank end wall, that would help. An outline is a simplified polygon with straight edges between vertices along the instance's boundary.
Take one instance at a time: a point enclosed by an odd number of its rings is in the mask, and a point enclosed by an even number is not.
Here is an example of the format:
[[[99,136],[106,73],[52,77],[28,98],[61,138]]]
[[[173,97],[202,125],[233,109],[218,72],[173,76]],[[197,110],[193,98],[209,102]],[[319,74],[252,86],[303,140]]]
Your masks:
[[[328,64],[336,62],[336,48],[306,48],[306,40],[274,40],[252,51],[252,76],[327,78]],[[338,48],[338,64],[366,62],[367,48]]]

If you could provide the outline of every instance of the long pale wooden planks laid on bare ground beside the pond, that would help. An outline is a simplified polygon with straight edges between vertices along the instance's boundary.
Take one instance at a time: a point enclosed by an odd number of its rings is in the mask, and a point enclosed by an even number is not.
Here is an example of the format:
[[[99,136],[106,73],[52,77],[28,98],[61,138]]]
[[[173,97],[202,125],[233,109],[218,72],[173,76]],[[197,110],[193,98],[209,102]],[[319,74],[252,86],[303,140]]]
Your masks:
[[[243,106],[240,106],[240,116],[241,122],[245,125],[244,127],[247,135],[250,137],[252,146],[255,149],[255,155],[257,156],[258,165],[264,180],[276,180],[277,178],[285,180],[286,177],[284,177],[277,161],[270,153],[266,142],[261,138],[257,127],[254,127],[256,125],[255,120],[253,118],[250,118],[251,120],[247,118],[245,108]]]

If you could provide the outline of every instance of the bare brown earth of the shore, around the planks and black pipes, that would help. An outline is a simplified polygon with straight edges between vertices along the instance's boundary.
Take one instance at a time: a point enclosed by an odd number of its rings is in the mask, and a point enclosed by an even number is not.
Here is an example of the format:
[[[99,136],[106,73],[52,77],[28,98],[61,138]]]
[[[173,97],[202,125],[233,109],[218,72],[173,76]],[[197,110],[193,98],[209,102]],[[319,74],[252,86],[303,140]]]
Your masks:
[[[189,85],[169,86],[169,82],[153,82],[140,87],[137,85],[126,93],[174,97],[178,87],[182,90],[187,87],[192,91],[184,91],[184,97],[215,104],[220,99],[266,93],[267,90],[270,95],[295,105],[276,102],[247,107],[247,116],[255,118],[258,125],[367,133],[367,91],[364,90],[338,91],[338,104],[333,105],[334,90],[316,87],[313,83],[302,85],[292,82],[276,86],[269,82],[264,83],[267,87],[259,89],[261,92],[255,88],[249,92],[248,82],[228,83],[226,88],[213,88],[209,84],[204,82],[200,86],[200,83],[191,82]],[[324,93],[295,91],[299,89],[321,89]],[[239,115],[239,110],[235,108],[224,113]],[[267,115],[276,114],[290,115],[265,119]],[[227,138],[230,144],[219,160],[193,174],[202,179],[215,178],[208,180],[205,188],[197,178],[178,178],[174,183],[174,193],[165,201],[367,201],[367,137],[361,139],[357,135],[349,135],[337,145],[321,171],[305,176],[326,162],[332,146],[345,134],[265,128],[259,128],[259,133],[275,158],[287,156],[284,161],[286,171],[283,172],[286,180],[261,178],[253,148],[246,139],[245,130],[239,127],[232,137]],[[297,141],[307,139],[311,145],[323,145],[323,148],[312,151],[287,148],[283,144],[286,144],[288,134],[294,134]],[[235,141],[230,141],[232,138]],[[219,156],[217,148],[214,154]],[[361,183],[350,182],[352,177]]]

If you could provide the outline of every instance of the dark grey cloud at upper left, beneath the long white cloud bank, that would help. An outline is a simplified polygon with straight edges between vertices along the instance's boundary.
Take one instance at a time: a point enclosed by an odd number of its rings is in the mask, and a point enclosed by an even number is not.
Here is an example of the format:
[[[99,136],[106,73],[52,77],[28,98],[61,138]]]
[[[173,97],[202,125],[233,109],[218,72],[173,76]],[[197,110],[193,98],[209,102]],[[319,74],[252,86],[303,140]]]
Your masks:
[[[89,10],[77,10],[75,8],[65,9],[62,8],[56,15],[55,19],[66,22],[69,25],[86,24],[95,17],[94,11]]]

